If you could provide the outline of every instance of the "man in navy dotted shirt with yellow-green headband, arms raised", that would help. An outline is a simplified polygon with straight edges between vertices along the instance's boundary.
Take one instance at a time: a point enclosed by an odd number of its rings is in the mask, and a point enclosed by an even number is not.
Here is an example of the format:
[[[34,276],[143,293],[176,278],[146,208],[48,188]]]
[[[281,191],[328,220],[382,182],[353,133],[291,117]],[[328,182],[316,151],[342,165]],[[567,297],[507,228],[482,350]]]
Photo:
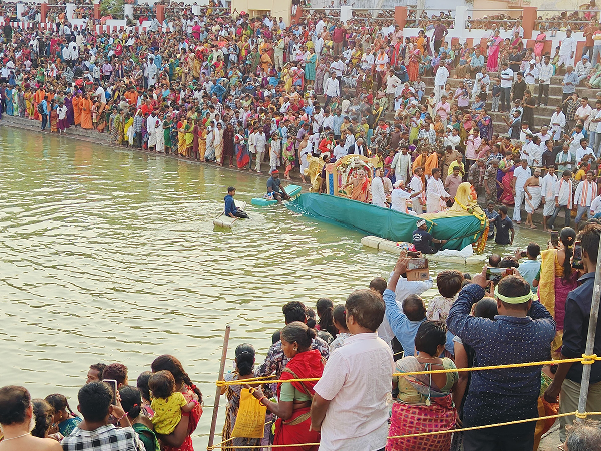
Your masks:
[[[472,305],[489,287],[486,266],[459,293],[447,319],[449,330],[475,350],[474,366],[548,360],[555,321],[543,304],[532,300],[530,285],[519,275],[501,279],[495,290],[499,314],[494,320],[470,316]],[[472,372],[463,407],[463,426],[493,425],[538,417],[542,366]],[[536,422],[468,431],[465,451],[532,451]]]

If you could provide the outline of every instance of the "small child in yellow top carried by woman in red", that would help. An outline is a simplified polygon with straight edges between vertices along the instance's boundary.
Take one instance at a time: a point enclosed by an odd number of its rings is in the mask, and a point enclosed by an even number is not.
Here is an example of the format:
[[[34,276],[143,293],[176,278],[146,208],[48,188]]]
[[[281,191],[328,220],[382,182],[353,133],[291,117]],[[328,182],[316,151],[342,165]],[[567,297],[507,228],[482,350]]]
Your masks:
[[[153,373],[148,379],[148,387],[152,397],[150,408],[154,411],[151,422],[157,434],[171,434],[182,419],[182,411],[191,412],[198,404],[197,394],[192,402],[188,402],[182,393],[175,391],[175,379],[168,371]]]

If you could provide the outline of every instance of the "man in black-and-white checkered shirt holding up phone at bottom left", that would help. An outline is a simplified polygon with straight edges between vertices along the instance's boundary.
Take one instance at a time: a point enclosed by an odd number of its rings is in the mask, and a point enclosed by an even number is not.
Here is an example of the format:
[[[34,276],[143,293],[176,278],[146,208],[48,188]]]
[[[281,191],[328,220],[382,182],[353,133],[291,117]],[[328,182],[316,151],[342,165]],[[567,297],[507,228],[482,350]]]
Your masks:
[[[84,421],[63,438],[63,451],[145,451],[120,400],[111,405],[112,395],[111,388],[100,381],[79,389],[78,410]],[[117,419],[120,428],[109,424],[109,415]]]

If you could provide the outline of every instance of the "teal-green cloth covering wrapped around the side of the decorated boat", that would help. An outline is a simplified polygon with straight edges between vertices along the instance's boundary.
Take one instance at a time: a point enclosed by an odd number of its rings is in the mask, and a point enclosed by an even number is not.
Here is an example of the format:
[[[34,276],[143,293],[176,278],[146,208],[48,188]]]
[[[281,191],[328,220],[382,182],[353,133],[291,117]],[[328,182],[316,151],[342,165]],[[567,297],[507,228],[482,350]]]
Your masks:
[[[419,220],[406,213],[326,194],[301,194],[286,206],[293,212],[319,221],[349,227],[391,241],[412,242],[412,232]],[[448,240],[443,249],[462,250],[477,241],[483,232],[480,219],[474,215],[445,216],[434,219],[434,222],[436,225],[428,222],[428,230],[435,238]]]

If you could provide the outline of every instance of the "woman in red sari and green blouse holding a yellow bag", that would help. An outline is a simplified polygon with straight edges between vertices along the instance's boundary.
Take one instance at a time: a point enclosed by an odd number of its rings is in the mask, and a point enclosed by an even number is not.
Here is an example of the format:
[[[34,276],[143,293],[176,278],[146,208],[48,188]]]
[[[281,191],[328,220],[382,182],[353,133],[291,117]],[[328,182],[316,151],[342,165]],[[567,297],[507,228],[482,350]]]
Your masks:
[[[280,338],[282,351],[290,358],[280,376],[282,380],[322,376],[325,360],[317,349],[310,351],[311,341],[315,338],[313,329],[295,321],[282,329]],[[268,400],[260,388],[254,391],[253,395],[278,417],[272,451],[290,450],[289,447],[281,447],[282,445],[319,443],[319,432],[310,431],[311,400],[315,394],[313,387],[316,383],[317,381],[278,384],[277,403]],[[319,445],[295,446],[294,450],[317,451],[318,448]]]

